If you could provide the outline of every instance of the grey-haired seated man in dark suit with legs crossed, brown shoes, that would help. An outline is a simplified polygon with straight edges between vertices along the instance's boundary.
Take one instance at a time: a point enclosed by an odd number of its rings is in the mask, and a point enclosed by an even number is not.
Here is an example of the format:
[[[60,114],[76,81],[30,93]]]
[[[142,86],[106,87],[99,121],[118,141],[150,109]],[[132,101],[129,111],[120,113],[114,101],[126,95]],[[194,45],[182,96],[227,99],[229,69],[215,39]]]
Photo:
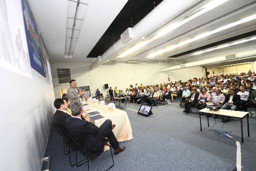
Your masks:
[[[97,127],[89,122],[87,116],[85,116],[85,120],[81,119],[81,114],[83,113],[81,103],[74,102],[71,110],[72,117],[67,118],[65,121],[66,129],[74,135],[75,138],[82,141],[85,140],[84,135],[87,135],[87,147],[90,156],[96,156],[103,150],[104,137],[109,139],[115,155],[125,149],[125,146],[119,146],[119,142],[112,132],[115,125],[112,125],[111,120],[107,119]]]

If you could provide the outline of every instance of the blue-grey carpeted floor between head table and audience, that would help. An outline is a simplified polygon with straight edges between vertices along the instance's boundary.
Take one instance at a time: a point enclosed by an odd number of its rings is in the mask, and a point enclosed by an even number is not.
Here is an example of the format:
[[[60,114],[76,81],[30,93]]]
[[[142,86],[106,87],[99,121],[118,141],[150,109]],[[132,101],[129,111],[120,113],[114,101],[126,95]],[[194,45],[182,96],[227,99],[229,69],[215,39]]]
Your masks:
[[[133,139],[120,142],[125,151],[114,155],[111,170],[232,170],[236,162],[234,140],[217,136],[210,129],[221,129],[219,118],[202,116],[200,131],[199,115],[183,113],[177,103],[153,107],[153,115],[138,115],[139,104],[122,108],[128,114]],[[193,109],[195,111],[195,109]],[[247,121],[243,119],[244,143],[241,143],[242,170],[256,168],[256,120],[249,118],[250,137],[247,136]],[[214,126],[213,126],[214,125]],[[211,128],[211,126],[213,126]],[[240,121],[231,119],[223,125],[224,130],[241,141]],[[86,170],[86,165],[70,167],[68,155],[63,154],[62,137],[51,130],[45,156],[51,156],[50,170]],[[111,162],[109,151],[90,161],[90,170],[104,170]],[[44,167],[44,166],[43,166]]]

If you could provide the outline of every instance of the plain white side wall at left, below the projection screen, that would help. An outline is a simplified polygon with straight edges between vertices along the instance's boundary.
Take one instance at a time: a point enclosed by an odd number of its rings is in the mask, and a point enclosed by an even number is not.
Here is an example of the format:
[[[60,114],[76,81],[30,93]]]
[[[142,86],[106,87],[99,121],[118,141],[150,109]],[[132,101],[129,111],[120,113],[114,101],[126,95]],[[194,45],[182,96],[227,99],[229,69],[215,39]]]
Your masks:
[[[48,76],[30,63],[31,77],[8,69],[0,67],[0,170],[41,170],[54,112],[53,88]]]

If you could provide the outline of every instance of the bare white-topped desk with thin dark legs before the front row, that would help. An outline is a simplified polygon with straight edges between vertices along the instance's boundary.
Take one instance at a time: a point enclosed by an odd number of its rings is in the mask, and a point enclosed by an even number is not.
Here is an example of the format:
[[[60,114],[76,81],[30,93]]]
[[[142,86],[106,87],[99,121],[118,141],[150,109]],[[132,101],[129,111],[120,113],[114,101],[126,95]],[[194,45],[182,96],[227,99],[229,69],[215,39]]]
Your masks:
[[[248,136],[250,136],[248,112],[245,112],[245,111],[234,111],[234,110],[225,110],[225,109],[219,109],[217,111],[212,111],[209,108],[203,108],[203,109],[199,110],[200,130],[202,131],[201,114],[207,114],[207,115],[209,115],[209,114],[216,114],[216,115],[222,115],[222,116],[229,116],[229,117],[239,118],[240,119],[240,123],[241,123],[241,139],[242,139],[242,143],[243,143],[242,118],[244,116],[247,116],[247,131],[248,131]],[[208,122],[208,127],[209,127],[209,117],[207,117],[207,122]]]

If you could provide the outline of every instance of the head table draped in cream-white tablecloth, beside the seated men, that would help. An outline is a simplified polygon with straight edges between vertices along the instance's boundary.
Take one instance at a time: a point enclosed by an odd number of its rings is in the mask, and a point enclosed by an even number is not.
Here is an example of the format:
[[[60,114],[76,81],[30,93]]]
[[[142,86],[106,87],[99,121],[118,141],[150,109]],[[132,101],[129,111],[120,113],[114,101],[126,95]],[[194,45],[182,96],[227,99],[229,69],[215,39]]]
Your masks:
[[[89,108],[89,110],[86,110],[88,117],[90,117],[88,112],[92,111],[98,111],[100,115],[104,116],[97,120],[90,119],[90,122],[94,123],[96,126],[99,127],[106,119],[110,119],[112,124],[115,124],[112,131],[118,141],[131,140],[133,138],[130,121],[125,111],[117,108],[109,110],[106,105],[89,105],[86,108]]]

